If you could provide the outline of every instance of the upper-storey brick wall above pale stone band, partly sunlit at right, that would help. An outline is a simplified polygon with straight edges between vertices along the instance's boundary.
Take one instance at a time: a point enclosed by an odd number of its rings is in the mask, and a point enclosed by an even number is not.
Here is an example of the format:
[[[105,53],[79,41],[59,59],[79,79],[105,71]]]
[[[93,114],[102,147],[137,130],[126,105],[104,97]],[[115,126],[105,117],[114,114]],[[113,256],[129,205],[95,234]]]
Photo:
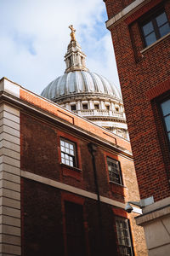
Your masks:
[[[88,150],[89,141],[86,138],[61,131],[55,125],[43,122],[26,113],[20,114],[20,132],[21,170],[48,177],[79,189],[96,192],[93,163]],[[60,137],[76,143],[77,168],[60,164]],[[95,162],[100,195],[109,196],[113,200],[122,202],[125,201],[127,195],[127,189],[116,183],[110,183],[107,157],[120,161],[124,185],[129,188],[133,185],[132,191],[135,191],[135,194],[139,197],[138,192],[136,192],[138,186],[133,160],[107,152],[104,148],[98,146]],[[127,184],[126,179],[130,183]]]

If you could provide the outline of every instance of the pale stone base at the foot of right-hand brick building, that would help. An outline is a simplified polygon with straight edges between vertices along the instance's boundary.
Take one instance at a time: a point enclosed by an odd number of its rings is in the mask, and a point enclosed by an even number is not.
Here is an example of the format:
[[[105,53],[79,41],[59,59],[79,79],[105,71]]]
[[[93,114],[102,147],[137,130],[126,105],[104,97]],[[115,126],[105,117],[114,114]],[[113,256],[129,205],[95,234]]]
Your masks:
[[[149,256],[170,253],[170,197],[144,207],[144,215],[136,223],[144,227]]]

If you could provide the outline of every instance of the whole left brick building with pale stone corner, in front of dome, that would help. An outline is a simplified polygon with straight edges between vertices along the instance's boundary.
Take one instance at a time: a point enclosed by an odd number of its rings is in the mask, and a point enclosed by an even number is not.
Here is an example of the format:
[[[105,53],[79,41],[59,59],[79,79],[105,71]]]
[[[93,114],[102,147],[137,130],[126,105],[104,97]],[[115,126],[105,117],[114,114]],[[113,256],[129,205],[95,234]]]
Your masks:
[[[130,143],[0,80],[1,255],[147,255]]]

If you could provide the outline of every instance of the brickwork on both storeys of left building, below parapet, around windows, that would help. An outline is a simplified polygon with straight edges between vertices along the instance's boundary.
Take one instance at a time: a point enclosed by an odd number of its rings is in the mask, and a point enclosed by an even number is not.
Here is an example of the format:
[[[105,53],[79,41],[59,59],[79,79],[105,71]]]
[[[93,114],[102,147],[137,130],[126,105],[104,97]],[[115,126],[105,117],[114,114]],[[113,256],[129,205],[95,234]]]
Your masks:
[[[54,181],[71,185],[74,188],[96,193],[93,162],[91,154],[88,151],[89,141],[86,137],[78,137],[76,133],[71,133],[69,130],[63,131],[53,123],[38,119],[27,113],[20,113],[20,132],[20,163],[22,171],[32,172],[38,176],[48,177]],[[60,137],[65,137],[65,139],[71,140],[77,144],[77,168],[60,164]],[[106,161],[107,157],[120,161],[123,186],[109,181]],[[116,154],[116,152],[112,152],[111,150],[108,151],[106,148],[102,148],[98,145],[95,155],[95,164],[100,195],[120,202],[129,201],[132,200],[132,198],[133,200],[139,201],[139,190],[134,172],[133,160],[130,160],[121,154]],[[46,255],[43,254],[46,253],[45,249],[41,249],[41,247],[44,247],[46,233],[48,234],[51,229],[51,222],[48,223],[49,218],[54,221],[54,228],[52,229],[54,238],[58,241],[58,232],[60,232],[62,236],[59,238],[58,243],[59,255],[65,255],[65,250],[63,248],[65,247],[65,235],[63,234],[63,217],[65,216],[65,211],[63,201],[73,201],[75,203],[83,204],[85,211],[85,227],[88,236],[87,247],[93,255],[99,255],[97,201],[61,191],[62,190],[53,189],[47,185],[22,178],[21,215],[23,230],[22,250],[24,256]],[[115,208],[114,211],[112,210],[113,208]],[[43,211],[43,209],[45,210]],[[101,212],[104,222],[105,252],[109,255],[111,251],[112,253],[116,253],[117,251],[116,235],[113,228],[114,215],[123,216],[129,219],[131,219],[133,215],[131,214],[127,216],[127,213],[123,209],[112,207],[104,203],[102,203]],[[55,214],[57,216],[55,216]],[[31,223],[33,223],[33,225]],[[37,230],[39,230],[39,235],[34,231],[35,226],[37,227]],[[46,232],[44,233],[43,230]],[[139,230],[141,236],[137,236],[135,233],[136,230]],[[137,254],[140,252],[139,244],[142,244],[143,254],[138,255],[147,255],[144,247],[142,228],[133,228],[132,231],[135,252]],[[52,235],[50,235],[48,241],[46,241],[46,246],[50,246],[51,253],[53,250],[55,253],[54,239],[50,240],[51,236]],[[29,251],[31,254],[28,253]]]

